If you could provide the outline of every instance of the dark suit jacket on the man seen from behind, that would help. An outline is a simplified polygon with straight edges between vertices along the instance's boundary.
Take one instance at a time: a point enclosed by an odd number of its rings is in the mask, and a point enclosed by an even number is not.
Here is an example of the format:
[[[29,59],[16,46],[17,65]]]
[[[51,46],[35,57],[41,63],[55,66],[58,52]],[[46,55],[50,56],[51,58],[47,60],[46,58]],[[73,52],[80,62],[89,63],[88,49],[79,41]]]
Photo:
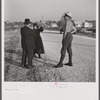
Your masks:
[[[21,45],[24,50],[35,49],[35,31],[27,26],[21,28]]]

